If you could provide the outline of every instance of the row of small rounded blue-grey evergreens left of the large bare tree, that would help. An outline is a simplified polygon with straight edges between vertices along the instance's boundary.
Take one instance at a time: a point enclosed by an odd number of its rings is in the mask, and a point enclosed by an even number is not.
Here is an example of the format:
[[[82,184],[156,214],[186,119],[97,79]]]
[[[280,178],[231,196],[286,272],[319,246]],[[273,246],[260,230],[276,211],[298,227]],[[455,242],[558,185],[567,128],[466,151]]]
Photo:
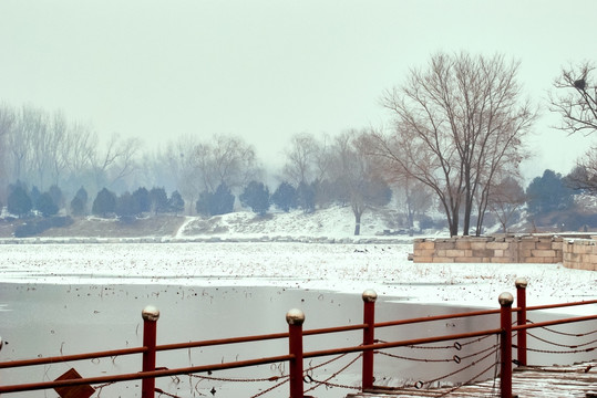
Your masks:
[[[391,189],[383,181],[364,184],[361,188],[362,200],[369,206],[384,206],[392,196]],[[48,191],[40,192],[37,187],[29,190],[25,184],[18,181],[10,185],[8,190],[8,211],[21,218],[35,213],[52,217],[62,208],[72,216],[86,216],[91,212],[103,218],[116,216],[125,219],[142,213],[181,213],[185,209],[185,201],[178,191],[173,191],[167,197],[164,188],[155,187],[151,190],[140,187],[132,193],[125,191],[120,196],[103,188],[97,192],[91,208],[88,191],[83,187],[76,191],[69,206],[58,186],[51,186]],[[272,205],[282,211],[302,209],[305,212],[312,212],[317,206],[348,203],[350,195],[354,195],[354,191],[347,190],[341,184],[327,181],[300,184],[298,187],[285,181],[270,193],[264,182],[253,180],[238,195],[238,200],[241,206],[264,216]],[[197,213],[206,217],[225,214],[234,211],[236,199],[231,189],[226,184],[220,184],[214,192],[202,192],[195,202],[195,209]]]

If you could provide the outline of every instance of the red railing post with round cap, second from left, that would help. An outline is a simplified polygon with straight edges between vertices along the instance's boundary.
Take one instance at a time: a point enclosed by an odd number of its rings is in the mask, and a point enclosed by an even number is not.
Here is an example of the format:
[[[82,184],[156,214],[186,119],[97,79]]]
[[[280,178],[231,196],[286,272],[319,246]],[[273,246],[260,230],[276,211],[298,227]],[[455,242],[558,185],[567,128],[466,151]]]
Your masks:
[[[294,308],[286,313],[290,359],[290,398],[302,398],[302,323],[305,314]]]

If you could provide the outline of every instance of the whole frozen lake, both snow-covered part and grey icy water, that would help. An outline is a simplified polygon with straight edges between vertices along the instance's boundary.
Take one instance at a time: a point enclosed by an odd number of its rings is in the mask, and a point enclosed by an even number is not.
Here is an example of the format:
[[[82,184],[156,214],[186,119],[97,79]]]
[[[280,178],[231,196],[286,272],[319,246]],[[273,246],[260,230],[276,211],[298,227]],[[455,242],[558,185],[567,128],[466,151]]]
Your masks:
[[[409,245],[354,244],[280,244],[280,243],[203,243],[203,244],[32,244],[3,245],[0,266],[0,336],[8,342],[0,360],[38,356],[55,356],[112,348],[136,347],[142,344],[141,311],[156,305],[161,311],[157,326],[158,344],[234,337],[240,335],[286,332],[285,314],[292,307],[305,311],[305,328],[320,328],[362,323],[361,293],[373,287],[380,294],[378,321],[436,315],[453,312],[496,308],[496,293],[508,289],[518,273],[508,265],[492,270],[484,264],[464,265],[465,271],[444,264],[412,264],[405,261]],[[516,264],[514,264],[516,265]],[[535,264],[536,265],[536,264]],[[553,265],[553,264],[552,264]],[[546,287],[550,277],[574,281],[576,289],[567,292],[573,301],[590,297],[595,281],[575,270],[557,266],[535,269],[518,266],[535,285],[535,297],[556,291]],[[474,265],[473,265],[474,266]],[[522,275],[521,275],[522,276]],[[542,277],[539,277],[542,276]],[[541,287],[541,289],[539,289]],[[547,290],[547,292],[546,292]],[[529,305],[533,302],[529,294]],[[537,301],[537,298],[535,298]],[[552,297],[548,303],[557,302]],[[542,302],[543,303],[543,302]],[[595,313],[593,308],[585,308]],[[534,321],[543,320],[545,314]],[[587,325],[589,327],[590,325]],[[497,327],[496,317],[476,321],[440,322],[400,329],[380,329],[377,337],[385,341],[415,338]],[[578,331],[579,327],[575,327]],[[423,332],[423,334],[422,334]],[[360,344],[361,333],[327,337],[306,337],[306,350]],[[471,352],[495,344],[490,338],[471,344]],[[287,353],[287,342],[226,348],[159,353],[158,366],[168,368],[210,363],[250,359]],[[453,349],[439,356],[465,355]],[[425,357],[428,353],[403,348],[398,355]],[[352,357],[340,358],[321,368],[318,379],[346,366]],[[328,360],[313,359],[306,368]],[[494,360],[495,358],[487,358]],[[553,360],[535,356],[534,363]],[[591,359],[590,357],[586,359]],[[54,364],[0,373],[2,384],[54,379],[71,367],[84,376],[101,376],[121,371],[137,371],[140,357],[104,358],[73,364]],[[490,366],[488,365],[488,366]],[[323,370],[325,369],[325,370]],[[397,362],[377,356],[375,376],[379,384],[430,380],[447,374],[452,363],[421,366],[420,363]],[[475,370],[477,371],[477,370]],[[493,371],[493,369],[492,369]],[[218,373],[224,378],[260,378],[286,375],[284,366],[265,366],[250,370]],[[491,377],[487,374],[485,377]],[[216,375],[212,375],[216,376]],[[463,373],[453,381],[467,380]],[[32,378],[32,379],[31,379]],[[357,386],[360,362],[343,371],[334,383]],[[102,396],[133,397],[140,395],[138,383],[107,386]],[[192,377],[158,379],[157,386],[179,397],[241,396],[251,397],[272,383],[226,383]],[[285,397],[287,386],[265,395]],[[306,386],[309,388],[309,385]],[[343,397],[350,390],[318,388],[318,397]],[[317,392],[317,394],[316,394]],[[53,391],[27,397],[54,397]]]

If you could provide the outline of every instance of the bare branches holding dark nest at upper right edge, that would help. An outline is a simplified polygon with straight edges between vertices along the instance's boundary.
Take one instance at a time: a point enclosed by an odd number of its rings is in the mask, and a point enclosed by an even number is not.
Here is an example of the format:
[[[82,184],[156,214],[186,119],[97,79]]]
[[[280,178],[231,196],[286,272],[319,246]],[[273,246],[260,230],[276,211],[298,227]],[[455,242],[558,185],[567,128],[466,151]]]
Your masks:
[[[562,116],[557,128],[569,134],[590,135],[597,130],[597,85],[595,65],[588,61],[562,69],[554,81],[557,93],[549,93],[549,111]]]

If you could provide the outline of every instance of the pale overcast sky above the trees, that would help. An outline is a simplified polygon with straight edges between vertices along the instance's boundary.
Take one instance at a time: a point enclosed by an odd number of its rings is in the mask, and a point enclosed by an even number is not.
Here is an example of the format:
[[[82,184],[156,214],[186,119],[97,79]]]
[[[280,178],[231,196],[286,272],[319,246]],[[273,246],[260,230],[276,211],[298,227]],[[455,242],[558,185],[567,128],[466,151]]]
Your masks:
[[[596,15],[595,0],[2,0],[0,102],[150,147],[239,135],[272,165],[296,133],[389,122],[382,91],[438,51],[521,60],[545,104],[563,65],[597,61]],[[527,176],[569,171],[589,142],[556,122],[537,123]]]

